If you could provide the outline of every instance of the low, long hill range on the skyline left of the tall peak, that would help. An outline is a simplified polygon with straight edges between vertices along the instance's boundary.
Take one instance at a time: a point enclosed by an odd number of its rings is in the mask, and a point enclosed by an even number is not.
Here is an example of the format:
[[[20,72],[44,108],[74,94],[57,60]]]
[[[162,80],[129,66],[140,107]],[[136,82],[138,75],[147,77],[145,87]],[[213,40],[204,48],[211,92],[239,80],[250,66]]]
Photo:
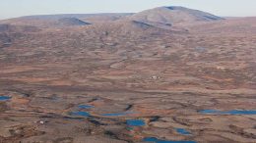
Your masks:
[[[34,25],[49,27],[68,23],[68,25],[97,24],[113,22],[132,14],[63,14],[63,15],[38,15],[3,20],[1,24]],[[76,19],[76,20],[75,20]],[[65,21],[65,22],[64,22]],[[67,22],[68,21],[68,22]],[[84,25],[82,24],[82,25]]]

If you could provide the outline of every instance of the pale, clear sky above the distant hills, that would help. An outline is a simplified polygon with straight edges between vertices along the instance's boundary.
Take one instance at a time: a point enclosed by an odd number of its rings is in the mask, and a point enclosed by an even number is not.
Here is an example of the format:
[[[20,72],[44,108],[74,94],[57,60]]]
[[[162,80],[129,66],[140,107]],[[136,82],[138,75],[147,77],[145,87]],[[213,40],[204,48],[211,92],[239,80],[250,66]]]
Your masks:
[[[48,14],[137,13],[183,6],[222,17],[256,16],[256,0],[0,0],[0,20]]]

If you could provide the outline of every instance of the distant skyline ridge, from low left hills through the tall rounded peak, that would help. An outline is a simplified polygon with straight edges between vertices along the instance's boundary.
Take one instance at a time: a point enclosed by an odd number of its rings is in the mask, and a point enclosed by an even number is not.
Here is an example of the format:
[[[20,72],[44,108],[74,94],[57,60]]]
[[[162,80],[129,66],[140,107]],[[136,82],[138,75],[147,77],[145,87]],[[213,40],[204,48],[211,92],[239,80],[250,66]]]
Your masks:
[[[118,20],[131,20],[142,23],[158,23],[158,24],[178,24],[178,23],[194,23],[196,21],[218,21],[224,18],[193,10],[180,6],[163,6],[154,9],[145,10],[139,13],[99,13],[99,14],[55,14],[55,15],[34,15],[8,20],[2,20],[2,23],[29,23],[29,21],[57,21],[63,18],[76,18],[91,24],[114,22]]]

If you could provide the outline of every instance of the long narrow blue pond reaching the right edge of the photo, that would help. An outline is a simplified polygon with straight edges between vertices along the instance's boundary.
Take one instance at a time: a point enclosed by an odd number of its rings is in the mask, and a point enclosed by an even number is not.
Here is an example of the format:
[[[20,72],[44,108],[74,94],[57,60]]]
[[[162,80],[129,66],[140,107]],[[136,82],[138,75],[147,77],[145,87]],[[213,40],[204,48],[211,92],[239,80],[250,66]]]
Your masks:
[[[256,110],[232,110],[232,111],[217,111],[217,110],[203,110],[201,114],[213,114],[213,115],[256,115]]]

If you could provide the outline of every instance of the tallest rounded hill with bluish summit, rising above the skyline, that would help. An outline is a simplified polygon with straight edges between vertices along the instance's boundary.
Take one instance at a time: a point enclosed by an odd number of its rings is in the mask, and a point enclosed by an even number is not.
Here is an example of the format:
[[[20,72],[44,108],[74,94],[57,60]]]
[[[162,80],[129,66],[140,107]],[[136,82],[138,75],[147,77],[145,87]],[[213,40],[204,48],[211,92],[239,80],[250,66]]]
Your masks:
[[[145,24],[166,26],[224,20],[209,13],[184,7],[159,7],[134,14],[129,19]]]

